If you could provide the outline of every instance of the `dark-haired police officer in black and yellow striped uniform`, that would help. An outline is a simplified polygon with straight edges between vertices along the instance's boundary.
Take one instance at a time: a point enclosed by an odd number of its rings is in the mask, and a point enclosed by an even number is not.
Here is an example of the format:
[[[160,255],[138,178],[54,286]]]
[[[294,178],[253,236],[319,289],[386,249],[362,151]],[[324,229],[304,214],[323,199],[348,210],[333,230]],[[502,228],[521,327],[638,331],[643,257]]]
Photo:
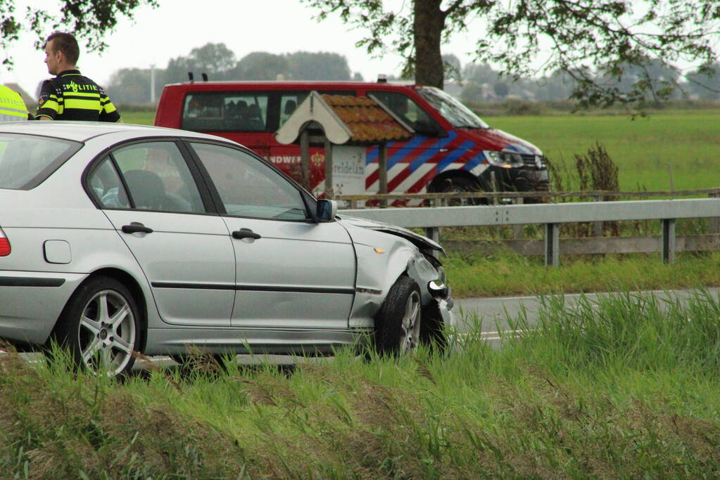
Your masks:
[[[104,89],[76,68],[80,48],[73,34],[55,32],[45,42],[45,63],[55,78],[45,80],[37,120],[122,121]]]

